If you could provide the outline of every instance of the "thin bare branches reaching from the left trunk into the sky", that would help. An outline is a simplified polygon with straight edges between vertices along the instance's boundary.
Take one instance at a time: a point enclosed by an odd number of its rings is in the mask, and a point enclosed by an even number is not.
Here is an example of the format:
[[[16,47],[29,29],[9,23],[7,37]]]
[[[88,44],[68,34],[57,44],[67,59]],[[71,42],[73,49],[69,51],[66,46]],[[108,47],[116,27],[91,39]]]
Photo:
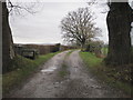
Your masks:
[[[41,4],[38,1],[34,2],[12,2],[12,0],[7,0],[7,8],[10,14],[23,16],[25,12],[34,14],[41,9]]]

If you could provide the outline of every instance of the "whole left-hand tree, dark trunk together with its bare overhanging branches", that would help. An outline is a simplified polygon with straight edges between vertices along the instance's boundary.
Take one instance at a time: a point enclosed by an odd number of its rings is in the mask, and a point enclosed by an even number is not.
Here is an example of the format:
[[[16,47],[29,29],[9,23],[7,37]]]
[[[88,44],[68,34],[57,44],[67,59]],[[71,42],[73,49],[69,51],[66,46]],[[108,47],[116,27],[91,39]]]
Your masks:
[[[25,6],[25,3],[22,2],[11,2],[7,0],[6,2],[0,1],[0,3],[2,6],[2,69],[3,72],[7,72],[8,63],[16,57],[12,32],[9,26],[9,14],[22,14],[23,11],[35,13],[37,11],[33,11],[35,2]]]

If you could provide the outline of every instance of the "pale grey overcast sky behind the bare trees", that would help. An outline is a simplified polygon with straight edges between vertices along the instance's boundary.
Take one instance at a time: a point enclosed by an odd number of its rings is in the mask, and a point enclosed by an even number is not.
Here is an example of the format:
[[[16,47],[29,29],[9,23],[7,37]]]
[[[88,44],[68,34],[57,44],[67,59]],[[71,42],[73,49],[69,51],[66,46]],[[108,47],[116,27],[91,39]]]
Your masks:
[[[64,43],[61,34],[60,22],[69,11],[89,7],[86,2],[42,2],[43,9],[35,14],[23,17],[10,17],[14,43]],[[95,4],[95,22],[102,29],[104,42],[108,42],[105,4]]]

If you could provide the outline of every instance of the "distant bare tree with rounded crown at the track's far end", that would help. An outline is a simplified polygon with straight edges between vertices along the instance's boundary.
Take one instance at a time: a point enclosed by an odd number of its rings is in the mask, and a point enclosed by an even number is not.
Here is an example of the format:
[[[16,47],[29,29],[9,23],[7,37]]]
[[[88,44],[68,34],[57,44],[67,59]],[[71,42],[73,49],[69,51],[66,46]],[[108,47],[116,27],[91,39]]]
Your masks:
[[[86,41],[90,41],[100,29],[94,27],[94,18],[89,8],[79,8],[66,14],[61,21],[63,38],[66,41],[75,41],[83,48]]]

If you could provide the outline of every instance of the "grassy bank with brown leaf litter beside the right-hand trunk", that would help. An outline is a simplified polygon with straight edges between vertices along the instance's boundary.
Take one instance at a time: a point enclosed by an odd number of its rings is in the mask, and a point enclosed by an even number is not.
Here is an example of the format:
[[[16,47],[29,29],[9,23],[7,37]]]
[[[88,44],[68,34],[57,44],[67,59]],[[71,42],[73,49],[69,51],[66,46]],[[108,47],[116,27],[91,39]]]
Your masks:
[[[90,52],[80,52],[80,56],[86,64],[89,71],[98,77],[101,81],[108,83],[108,86],[121,89],[129,96],[132,93],[132,64],[124,67],[105,67],[102,62],[103,59],[96,58]]]

